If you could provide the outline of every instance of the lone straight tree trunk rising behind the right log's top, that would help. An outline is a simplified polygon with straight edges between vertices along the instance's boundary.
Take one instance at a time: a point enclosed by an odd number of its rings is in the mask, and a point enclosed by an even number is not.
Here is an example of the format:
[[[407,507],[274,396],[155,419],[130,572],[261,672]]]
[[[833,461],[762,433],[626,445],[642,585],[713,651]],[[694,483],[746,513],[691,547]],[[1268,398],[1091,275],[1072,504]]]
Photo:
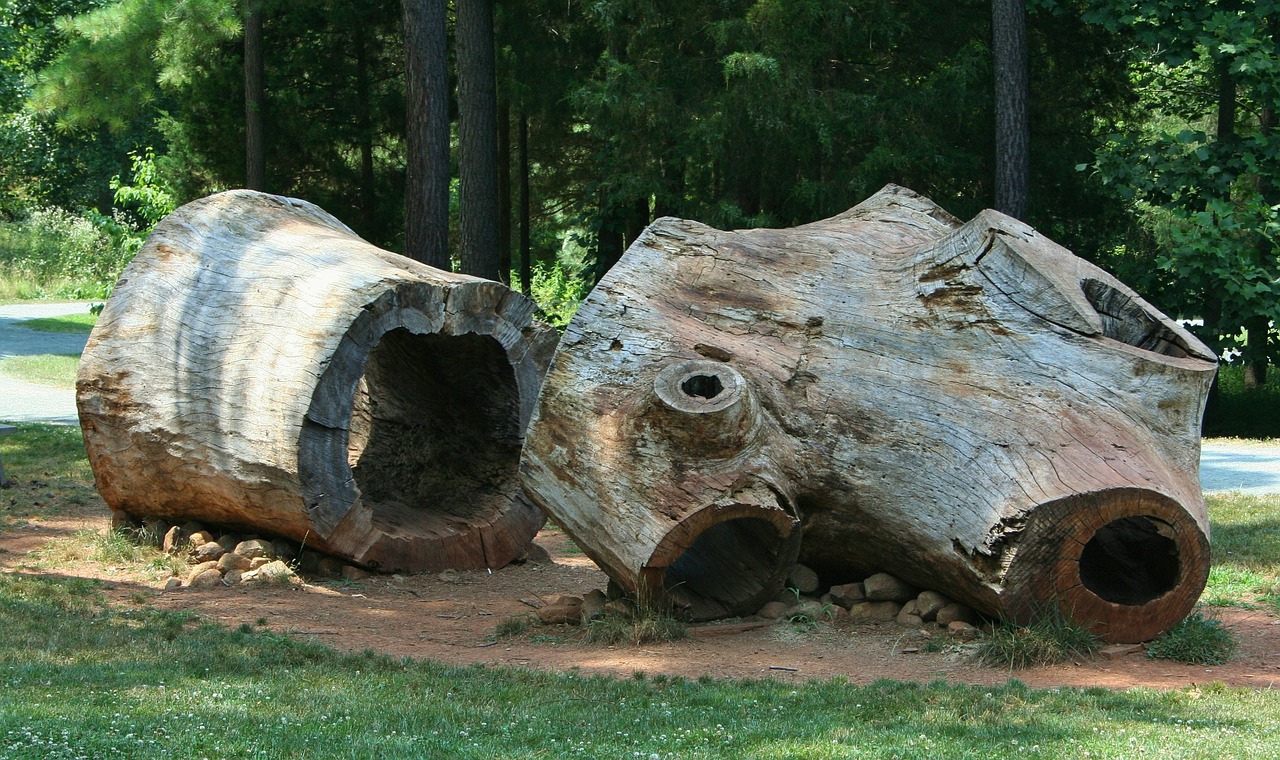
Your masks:
[[[991,0],[991,29],[996,74],[996,210],[1027,219],[1030,118],[1025,0]]]

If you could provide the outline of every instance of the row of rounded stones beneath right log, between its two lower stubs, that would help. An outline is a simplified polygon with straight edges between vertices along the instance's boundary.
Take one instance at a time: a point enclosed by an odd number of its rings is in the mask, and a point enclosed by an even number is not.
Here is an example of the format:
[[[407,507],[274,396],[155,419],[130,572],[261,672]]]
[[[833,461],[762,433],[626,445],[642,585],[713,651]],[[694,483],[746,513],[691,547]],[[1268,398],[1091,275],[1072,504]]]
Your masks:
[[[909,628],[941,628],[960,638],[973,638],[979,632],[978,615],[972,609],[937,591],[916,589],[888,573],[876,573],[823,592],[818,573],[803,564],[795,566],[787,577],[787,589],[758,614],[767,619],[804,615],[815,622],[896,622]]]

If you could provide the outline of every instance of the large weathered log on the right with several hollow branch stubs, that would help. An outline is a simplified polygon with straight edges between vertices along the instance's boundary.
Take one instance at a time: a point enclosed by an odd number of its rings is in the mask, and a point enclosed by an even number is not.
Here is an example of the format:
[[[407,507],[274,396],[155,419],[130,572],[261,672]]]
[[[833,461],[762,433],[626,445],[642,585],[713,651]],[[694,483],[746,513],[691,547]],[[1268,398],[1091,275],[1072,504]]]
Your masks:
[[[522,477],[611,577],[692,618],[754,612],[799,555],[1144,640],[1207,576],[1215,368],[993,211],[891,186],[796,229],[663,219],[562,338]]]

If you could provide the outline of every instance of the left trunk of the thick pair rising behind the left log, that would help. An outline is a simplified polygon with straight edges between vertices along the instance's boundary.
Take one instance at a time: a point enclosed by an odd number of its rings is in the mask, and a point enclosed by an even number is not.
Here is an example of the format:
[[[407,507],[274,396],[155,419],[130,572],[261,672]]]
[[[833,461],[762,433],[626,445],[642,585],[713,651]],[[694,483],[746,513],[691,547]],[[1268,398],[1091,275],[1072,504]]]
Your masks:
[[[445,0],[401,0],[408,124],[404,255],[448,271],[449,65]]]

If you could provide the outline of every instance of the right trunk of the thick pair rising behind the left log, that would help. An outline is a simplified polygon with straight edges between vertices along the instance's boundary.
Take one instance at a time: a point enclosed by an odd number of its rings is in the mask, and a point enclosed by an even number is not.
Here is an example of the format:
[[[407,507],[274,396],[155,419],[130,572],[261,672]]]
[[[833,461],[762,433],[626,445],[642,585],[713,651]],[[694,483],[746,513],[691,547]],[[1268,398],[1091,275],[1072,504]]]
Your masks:
[[[498,99],[493,0],[457,0],[461,271],[497,280]]]

